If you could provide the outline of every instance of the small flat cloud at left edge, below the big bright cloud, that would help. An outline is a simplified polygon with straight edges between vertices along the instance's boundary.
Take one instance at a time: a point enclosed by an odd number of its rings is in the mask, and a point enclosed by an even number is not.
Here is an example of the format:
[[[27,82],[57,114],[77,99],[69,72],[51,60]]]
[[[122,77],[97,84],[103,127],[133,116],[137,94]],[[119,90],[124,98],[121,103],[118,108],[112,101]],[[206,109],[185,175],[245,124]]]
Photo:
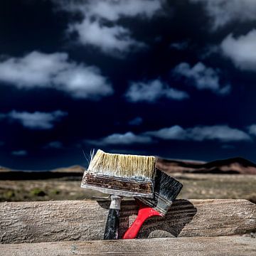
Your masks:
[[[7,114],[1,114],[2,118],[11,121],[20,122],[23,127],[28,129],[52,129],[55,122],[59,122],[61,118],[68,113],[56,110],[54,112],[17,112],[13,110]]]

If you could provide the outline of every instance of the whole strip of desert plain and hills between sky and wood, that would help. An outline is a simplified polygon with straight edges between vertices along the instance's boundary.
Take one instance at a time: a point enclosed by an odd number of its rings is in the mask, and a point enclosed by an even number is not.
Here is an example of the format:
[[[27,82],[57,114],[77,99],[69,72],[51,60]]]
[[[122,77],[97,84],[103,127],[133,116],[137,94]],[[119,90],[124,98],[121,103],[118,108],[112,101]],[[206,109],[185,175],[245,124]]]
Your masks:
[[[233,158],[213,162],[159,159],[156,167],[183,183],[178,198],[243,198],[256,203],[256,165]],[[0,201],[81,200],[107,196],[80,188],[82,166],[51,171],[0,168]]]

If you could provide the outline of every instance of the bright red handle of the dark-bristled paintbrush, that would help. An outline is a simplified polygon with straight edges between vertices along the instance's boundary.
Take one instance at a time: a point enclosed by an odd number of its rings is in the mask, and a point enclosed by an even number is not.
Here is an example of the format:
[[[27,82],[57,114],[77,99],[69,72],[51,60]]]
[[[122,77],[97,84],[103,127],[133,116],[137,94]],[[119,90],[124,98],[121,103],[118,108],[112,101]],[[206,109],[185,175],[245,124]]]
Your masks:
[[[139,202],[139,212],[136,220],[132,223],[131,227],[124,234],[123,239],[134,239],[137,238],[139,230],[142,228],[144,221],[152,216],[162,216],[161,213],[144,205],[144,203]]]

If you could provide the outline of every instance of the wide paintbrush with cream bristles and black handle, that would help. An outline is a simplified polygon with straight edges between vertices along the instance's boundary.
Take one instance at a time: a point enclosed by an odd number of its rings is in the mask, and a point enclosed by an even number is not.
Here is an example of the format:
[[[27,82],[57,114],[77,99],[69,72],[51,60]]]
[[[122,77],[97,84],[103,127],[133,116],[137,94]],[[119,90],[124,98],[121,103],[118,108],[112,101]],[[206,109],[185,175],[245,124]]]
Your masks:
[[[154,196],[154,156],[109,154],[98,150],[82,177],[82,188],[92,188],[111,196],[104,239],[117,239],[122,196]]]

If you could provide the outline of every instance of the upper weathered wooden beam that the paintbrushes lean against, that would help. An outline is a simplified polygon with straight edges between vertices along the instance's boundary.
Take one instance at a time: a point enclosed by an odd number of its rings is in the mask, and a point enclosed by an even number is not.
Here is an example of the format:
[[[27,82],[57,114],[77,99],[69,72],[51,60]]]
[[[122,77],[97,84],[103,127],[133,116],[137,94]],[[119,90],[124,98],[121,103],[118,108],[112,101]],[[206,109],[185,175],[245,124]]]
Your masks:
[[[101,240],[107,201],[0,203],[0,242]],[[137,214],[134,201],[122,203],[120,235]],[[238,235],[256,230],[256,205],[245,200],[178,200],[163,217],[144,223],[139,238]]]

